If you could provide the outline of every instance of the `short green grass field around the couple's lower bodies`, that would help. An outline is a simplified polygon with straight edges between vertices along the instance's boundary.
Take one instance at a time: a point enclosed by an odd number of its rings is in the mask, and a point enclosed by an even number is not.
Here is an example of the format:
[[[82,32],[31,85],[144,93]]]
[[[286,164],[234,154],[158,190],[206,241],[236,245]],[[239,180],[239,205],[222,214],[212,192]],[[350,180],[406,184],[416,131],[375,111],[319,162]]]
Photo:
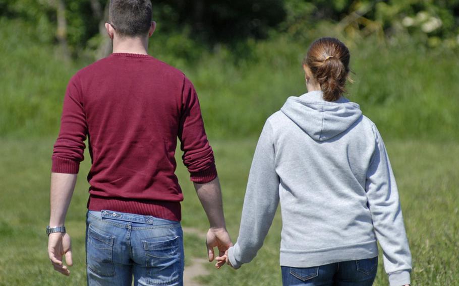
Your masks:
[[[89,156],[68,212],[66,225],[72,237],[74,266],[66,277],[50,265],[44,228],[49,216],[49,170],[52,137],[0,138],[0,285],[84,285],[85,175]],[[237,238],[245,184],[256,138],[211,140],[223,190],[227,228]],[[413,285],[459,284],[459,145],[416,140],[386,142],[397,179],[405,224],[413,255]],[[180,154],[178,154],[180,155]],[[180,156],[178,156],[180,158]],[[180,162],[180,161],[179,161]],[[186,170],[178,174],[184,189],[183,226],[207,229],[207,220]],[[202,276],[208,285],[279,285],[280,216],[276,216],[265,245],[240,270],[223,267]],[[206,255],[202,239],[185,236],[189,258]],[[387,285],[380,265],[375,285]]]

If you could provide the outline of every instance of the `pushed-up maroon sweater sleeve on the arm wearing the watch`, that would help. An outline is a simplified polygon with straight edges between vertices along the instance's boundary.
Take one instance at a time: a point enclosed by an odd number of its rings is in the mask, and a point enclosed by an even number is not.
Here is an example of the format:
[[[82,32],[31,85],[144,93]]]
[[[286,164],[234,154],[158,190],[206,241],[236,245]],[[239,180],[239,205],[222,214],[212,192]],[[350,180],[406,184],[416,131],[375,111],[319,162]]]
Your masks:
[[[78,174],[84,160],[86,115],[81,101],[80,83],[75,75],[67,86],[61,117],[61,130],[52,154],[53,173]]]

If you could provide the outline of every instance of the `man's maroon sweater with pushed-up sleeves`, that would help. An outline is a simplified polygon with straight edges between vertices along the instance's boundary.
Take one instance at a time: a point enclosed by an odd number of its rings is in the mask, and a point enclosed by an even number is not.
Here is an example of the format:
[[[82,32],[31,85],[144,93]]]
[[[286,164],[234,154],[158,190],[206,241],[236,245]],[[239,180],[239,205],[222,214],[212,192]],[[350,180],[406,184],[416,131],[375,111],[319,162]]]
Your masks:
[[[180,221],[177,137],[196,183],[217,176],[192,83],[152,56],[113,53],[69,82],[52,172],[76,174],[88,136],[88,209]]]

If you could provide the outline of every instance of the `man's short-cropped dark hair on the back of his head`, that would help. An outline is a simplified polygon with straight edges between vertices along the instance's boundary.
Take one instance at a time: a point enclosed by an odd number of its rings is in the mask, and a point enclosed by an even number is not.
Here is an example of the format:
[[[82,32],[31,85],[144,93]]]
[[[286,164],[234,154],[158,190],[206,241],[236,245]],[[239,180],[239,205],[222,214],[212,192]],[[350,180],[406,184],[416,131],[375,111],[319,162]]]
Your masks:
[[[144,36],[151,26],[150,0],[110,0],[110,24],[121,36]]]

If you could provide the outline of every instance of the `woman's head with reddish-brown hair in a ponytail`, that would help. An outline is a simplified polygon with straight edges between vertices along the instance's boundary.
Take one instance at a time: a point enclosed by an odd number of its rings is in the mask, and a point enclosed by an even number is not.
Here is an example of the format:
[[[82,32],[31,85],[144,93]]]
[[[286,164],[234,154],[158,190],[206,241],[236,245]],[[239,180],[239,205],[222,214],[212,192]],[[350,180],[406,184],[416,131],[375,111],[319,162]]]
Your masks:
[[[306,79],[320,85],[326,101],[339,99],[346,92],[351,55],[345,44],[335,38],[320,38],[309,47],[303,60]]]

